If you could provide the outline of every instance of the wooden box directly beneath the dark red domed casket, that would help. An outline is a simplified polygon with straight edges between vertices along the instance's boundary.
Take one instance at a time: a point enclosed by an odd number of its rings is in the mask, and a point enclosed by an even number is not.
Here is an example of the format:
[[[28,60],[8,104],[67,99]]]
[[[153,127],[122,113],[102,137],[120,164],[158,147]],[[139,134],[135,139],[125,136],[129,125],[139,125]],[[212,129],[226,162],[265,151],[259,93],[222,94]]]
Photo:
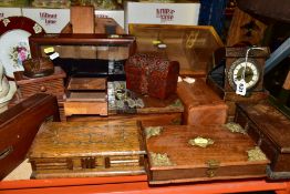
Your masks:
[[[72,115],[68,121],[142,121],[143,125],[170,125],[182,124],[184,105],[180,99],[173,94],[165,100],[151,98],[128,91],[125,89],[125,82],[108,82],[107,99],[108,99],[108,115]],[[116,93],[125,94],[116,96]],[[121,98],[121,99],[120,99]],[[128,108],[125,104],[128,100],[142,101],[143,106]],[[121,105],[120,105],[121,104]]]

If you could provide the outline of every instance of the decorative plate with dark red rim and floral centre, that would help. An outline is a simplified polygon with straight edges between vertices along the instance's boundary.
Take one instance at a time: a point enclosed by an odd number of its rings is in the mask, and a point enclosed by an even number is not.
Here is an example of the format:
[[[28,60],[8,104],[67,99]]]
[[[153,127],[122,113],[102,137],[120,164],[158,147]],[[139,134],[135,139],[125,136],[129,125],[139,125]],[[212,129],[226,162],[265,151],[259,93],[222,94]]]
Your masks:
[[[35,21],[25,17],[9,17],[0,20],[0,63],[6,75],[14,78],[14,71],[23,71],[22,61],[30,59],[28,38],[45,31]]]

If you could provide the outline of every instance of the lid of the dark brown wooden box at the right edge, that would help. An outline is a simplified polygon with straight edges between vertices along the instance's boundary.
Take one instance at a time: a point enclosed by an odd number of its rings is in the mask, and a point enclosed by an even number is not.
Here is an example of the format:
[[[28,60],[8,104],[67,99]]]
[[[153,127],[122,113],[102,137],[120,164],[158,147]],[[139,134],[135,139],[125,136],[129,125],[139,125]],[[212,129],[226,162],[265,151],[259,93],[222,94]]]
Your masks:
[[[290,153],[290,119],[268,102],[257,104],[238,103],[255,123],[281,153]]]

